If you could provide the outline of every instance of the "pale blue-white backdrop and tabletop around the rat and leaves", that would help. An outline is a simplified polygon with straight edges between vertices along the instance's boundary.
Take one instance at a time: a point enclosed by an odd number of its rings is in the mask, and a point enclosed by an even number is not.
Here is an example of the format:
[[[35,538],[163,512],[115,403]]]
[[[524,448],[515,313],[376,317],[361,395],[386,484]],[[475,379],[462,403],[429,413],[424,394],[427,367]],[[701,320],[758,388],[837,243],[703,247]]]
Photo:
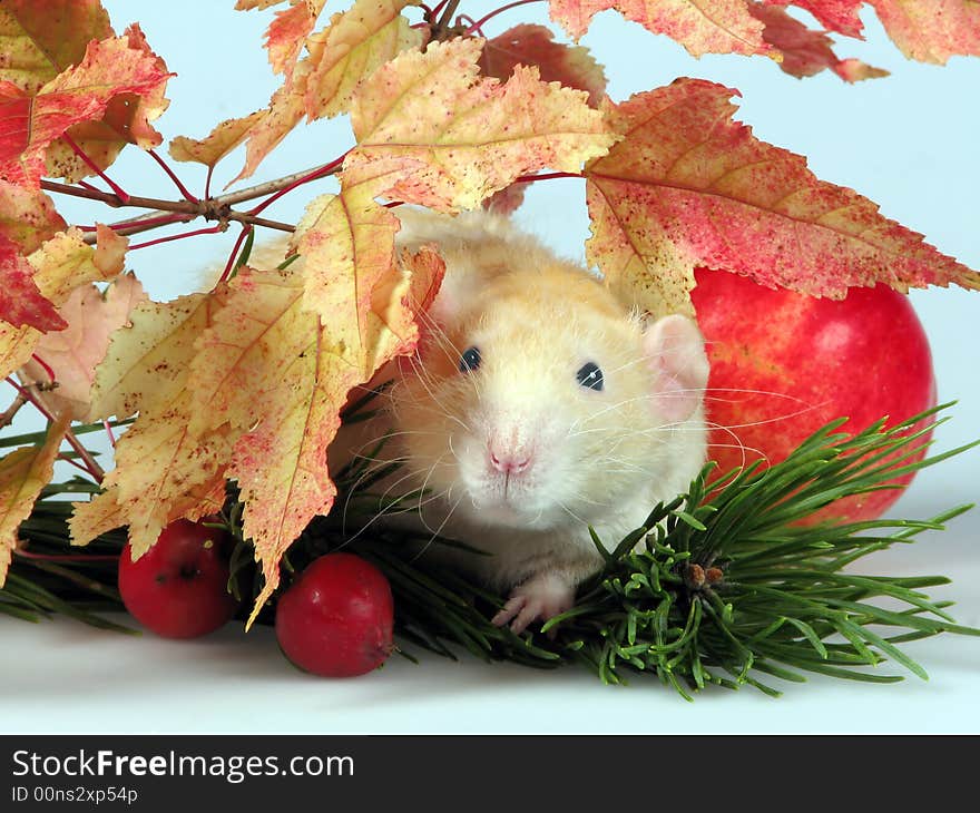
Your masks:
[[[263,107],[277,85],[259,48],[268,12],[234,12],[232,0],[104,2],[118,31],[139,20],[150,46],[178,74],[169,85],[170,109],[158,123],[165,138],[204,136],[219,120]],[[496,6],[464,0],[461,11],[479,17]],[[860,57],[892,76],[857,86],[830,72],[797,80],[765,58],[694,60],[679,46],[624,23],[612,12],[600,14],[582,42],[606,65],[616,100],[677,76],[737,88],[743,97],[738,116],[761,138],[806,155],[821,178],[857,189],[886,216],[980,268],[980,60],[954,58],[945,68],[908,62],[872,13],[863,19],[869,41],[847,40],[839,55]],[[493,36],[521,21],[543,22],[543,13],[537,4],[516,9],[486,30]],[[345,119],[320,123],[291,136],[254,180],[316,166],[349,146]],[[236,154],[220,166],[218,185],[237,174],[241,161]],[[192,190],[200,190],[202,176],[193,166],[179,172]],[[138,150],[127,150],[111,174],[134,194],[174,194]],[[297,190],[266,215],[295,222],[304,204],[330,190],[331,183]],[[581,256],[587,236],[582,198],[579,180],[537,184],[519,217],[557,251]],[[58,204],[80,223],[121,216],[86,214],[74,202]],[[133,267],[155,298],[169,298],[195,288],[204,266],[223,262],[234,236],[229,232],[136,252]],[[954,420],[935,433],[938,451],[980,437],[976,316],[971,319],[980,306],[977,297],[938,288],[912,295],[932,345],[940,399],[960,402]],[[892,513],[925,517],[973,501],[978,474],[977,451],[948,461],[922,474]],[[933,596],[955,600],[959,620],[980,626],[978,540],[980,512],[973,511],[943,533],[876,555],[863,570],[949,575],[954,584],[935,588]],[[974,692],[980,686],[980,638],[943,636],[908,650],[930,672],[929,683],[910,677],[894,686],[872,686],[814,677],[805,685],[786,685],[780,701],[752,689],[718,689],[689,705],[655,679],[606,687],[574,667],[540,673],[465,657],[452,664],[435,656],[413,666],[393,657],[376,673],[332,682],[293,669],[268,629],[244,636],[231,626],[203,640],[176,643],[151,635],[115,636],[61,620],[36,626],[0,618],[0,729],[980,732]]]

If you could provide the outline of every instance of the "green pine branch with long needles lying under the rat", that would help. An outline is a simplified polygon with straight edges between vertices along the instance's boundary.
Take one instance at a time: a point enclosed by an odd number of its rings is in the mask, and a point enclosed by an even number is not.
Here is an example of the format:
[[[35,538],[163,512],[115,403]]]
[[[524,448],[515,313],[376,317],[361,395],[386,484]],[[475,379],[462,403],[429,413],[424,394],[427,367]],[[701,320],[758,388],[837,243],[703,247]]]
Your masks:
[[[281,589],[311,559],[344,548],[388,576],[396,633],[410,659],[416,647],[450,658],[464,650],[484,660],[543,668],[578,663],[609,684],[656,676],[687,699],[709,685],[747,685],[777,696],[773,678],[800,683],[806,673],[872,683],[902,679],[901,674],[882,672],[885,660],[924,679],[925,670],[902,644],[940,633],[980,635],[955,623],[945,611],[949,603],[933,601],[922,591],[948,579],[863,576],[845,568],[892,545],[913,542],[922,531],[941,530],[970,507],[924,521],[798,521],[836,499],[891,488],[885,481],[896,474],[976,445],[912,460],[924,442],[923,432],[912,427],[942,409],[891,429],[880,421],[854,437],[839,432],[843,421],[835,421],[782,463],[749,466],[714,483],[713,467],[705,467],[688,493],[656,506],[612,552],[592,532],[605,560],[602,571],[581,586],[572,609],[538,631],[516,635],[490,624],[504,598],[419,559],[416,547],[408,543],[412,535],[375,530],[374,525],[355,533],[357,528],[344,529],[334,517],[317,518],[291,548]],[[339,478],[337,505],[344,505],[344,490],[355,481],[365,487],[365,474],[352,467]],[[85,487],[79,481],[49,487],[21,526],[30,550],[68,549],[67,503],[57,497],[71,490]],[[241,529],[241,506],[234,499],[228,505],[226,520]],[[360,511],[366,525],[380,508],[400,505],[381,505],[362,490],[347,506],[347,521]],[[124,540],[117,531],[85,550],[118,554]],[[450,540],[418,540],[465,548]],[[241,542],[232,565],[235,589],[245,598],[256,595],[261,577],[251,545]],[[63,613],[105,624],[92,609],[111,607],[114,590],[115,570],[102,564],[45,567],[17,557],[0,590],[0,613],[29,620]],[[271,603],[259,621],[273,617]]]

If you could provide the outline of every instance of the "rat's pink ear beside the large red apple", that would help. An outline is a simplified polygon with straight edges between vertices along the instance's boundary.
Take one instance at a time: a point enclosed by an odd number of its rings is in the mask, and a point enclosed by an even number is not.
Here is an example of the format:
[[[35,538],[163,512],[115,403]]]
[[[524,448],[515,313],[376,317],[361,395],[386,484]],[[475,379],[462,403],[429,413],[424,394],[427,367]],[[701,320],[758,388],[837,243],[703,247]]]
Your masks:
[[[708,383],[708,359],[697,325],[679,313],[657,320],[644,333],[644,353],[656,376],[657,413],[668,421],[690,418]]]

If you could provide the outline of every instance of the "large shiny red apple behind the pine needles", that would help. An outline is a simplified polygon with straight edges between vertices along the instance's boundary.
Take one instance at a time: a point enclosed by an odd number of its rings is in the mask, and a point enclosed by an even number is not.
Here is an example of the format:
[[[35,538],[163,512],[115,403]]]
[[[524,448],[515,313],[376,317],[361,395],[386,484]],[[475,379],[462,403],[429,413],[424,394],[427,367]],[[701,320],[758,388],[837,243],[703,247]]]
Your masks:
[[[774,291],[727,272],[698,268],[695,277],[692,298],[712,364],[705,405],[717,424],[708,458],[721,471],[758,458],[780,462],[837,418],[850,419],[844,431],[857,432],[935,404],[929,342],[905,295],[878,285],[835,301]],[[914,459],[924,454],[922,449]],[[813,519],[873,519],[900,494],[856,494]]]

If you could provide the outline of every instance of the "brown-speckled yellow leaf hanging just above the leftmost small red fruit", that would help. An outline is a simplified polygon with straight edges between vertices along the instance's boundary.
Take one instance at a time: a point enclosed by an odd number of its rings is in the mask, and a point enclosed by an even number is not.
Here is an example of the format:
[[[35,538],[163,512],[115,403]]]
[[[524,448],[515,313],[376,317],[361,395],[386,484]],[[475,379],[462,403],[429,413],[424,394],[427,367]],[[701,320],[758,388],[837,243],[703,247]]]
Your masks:
[[[84,545],[108,530],[129,526],[134,556],[156,541],[179,517],[220,508],[224,468],[235,435],[228,427],[195,423],[194,394],[216,386],[192,375],[195,342],[224,302],[224,288],[169,303],[146,302],[117,331],[96,371],[91,417],[139,417],[116,445],[116,468],[106,491],[76,503],[72,542]],[[216,496],[217,494],[217,496]],[[120,521],[121,520],[121,521]]]

